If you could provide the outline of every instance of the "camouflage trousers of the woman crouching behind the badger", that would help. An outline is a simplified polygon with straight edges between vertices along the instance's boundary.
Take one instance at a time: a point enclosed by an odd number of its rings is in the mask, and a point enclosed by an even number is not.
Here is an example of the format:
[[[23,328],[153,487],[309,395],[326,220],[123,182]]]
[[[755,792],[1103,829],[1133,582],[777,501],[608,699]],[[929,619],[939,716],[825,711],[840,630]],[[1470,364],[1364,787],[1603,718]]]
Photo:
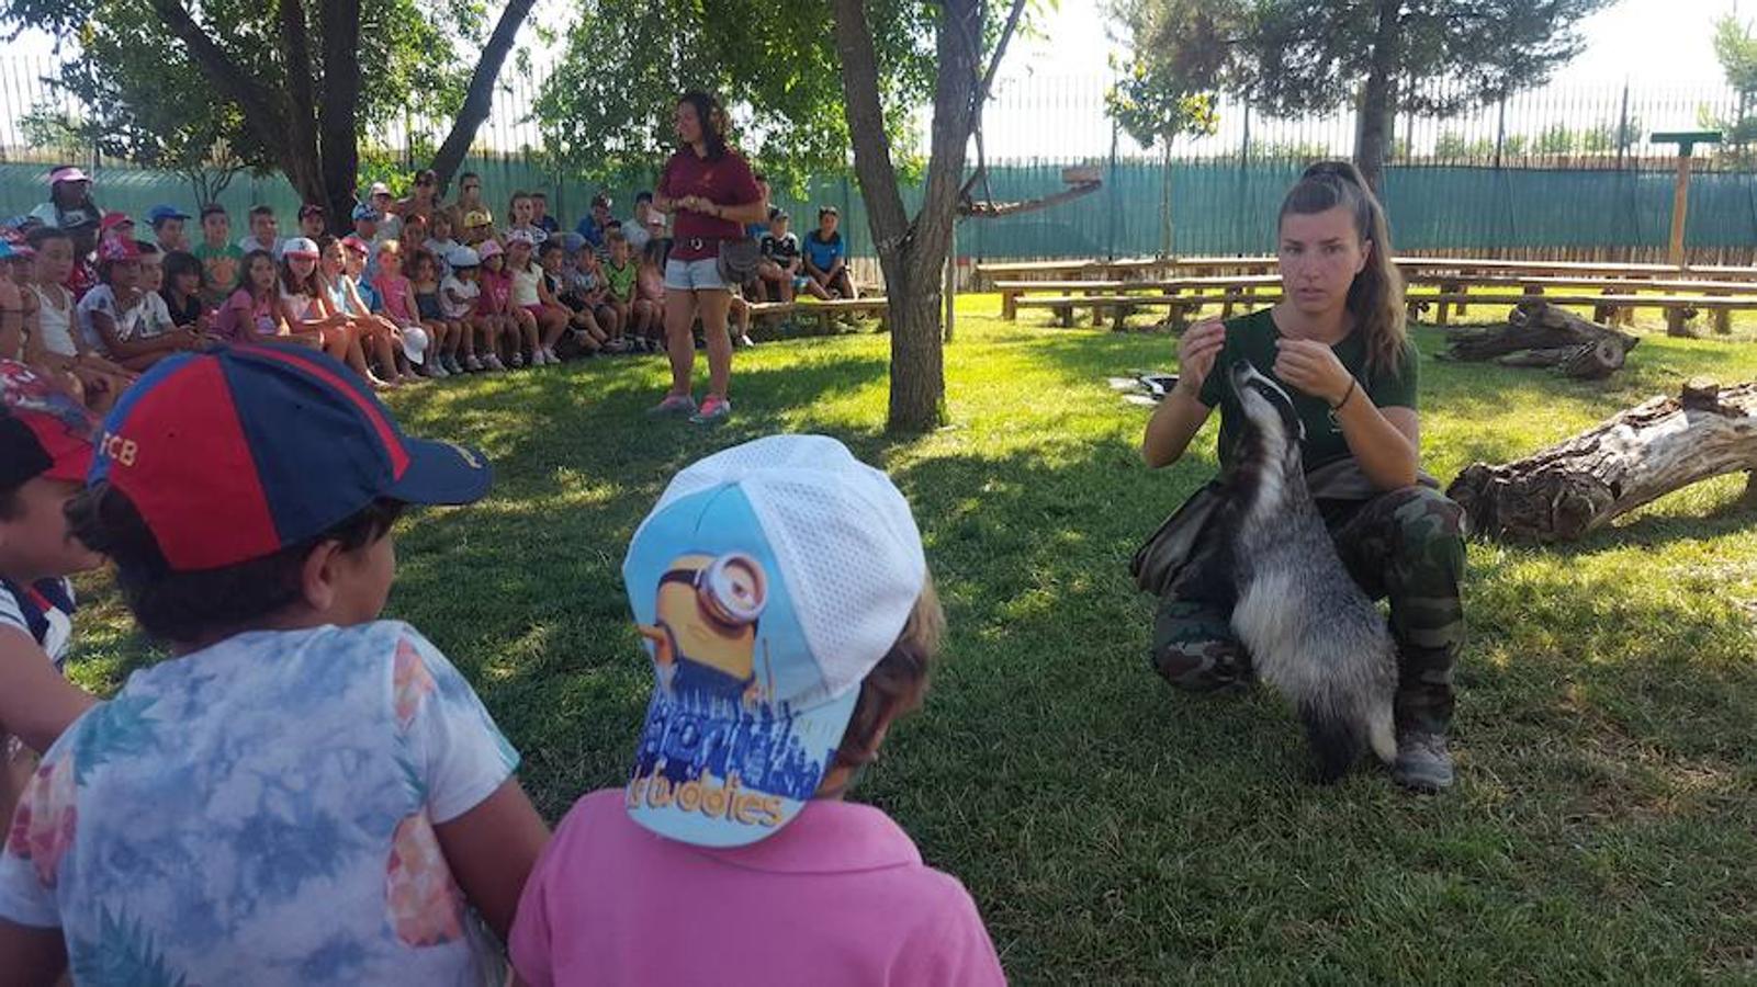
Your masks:
[[[1444,732],[1451,667],[1464,643],[1464,511],[1425,486],[1320,508],[1348,573],[1372,599],[1390,599],[1400,667],[1397,725]],[[1153,667],[1195,692],[1247,683],[1251,660],[1232,632],[1232,609],[1200,595],[1174,592],[1160,601]]]

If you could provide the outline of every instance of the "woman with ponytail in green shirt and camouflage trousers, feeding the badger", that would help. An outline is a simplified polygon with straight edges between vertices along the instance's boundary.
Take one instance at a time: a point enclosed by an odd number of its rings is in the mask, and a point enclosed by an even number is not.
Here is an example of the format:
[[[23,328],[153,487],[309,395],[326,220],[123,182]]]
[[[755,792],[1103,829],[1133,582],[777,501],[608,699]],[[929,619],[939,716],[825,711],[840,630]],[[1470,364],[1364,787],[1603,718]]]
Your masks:
[[[1369,595],[1392,604],[1400,666],[1393,776],[1446,789],[1465,522],[1420,472],[1418,355],[1385,211],[1355,165],[1321,162],[1283,200],[1277,241],[1283,300],[1184,332],[1177,386],[1147,421],[1142,458],[1177,462],[1218,406],[1221,469],[1230,465],[1244,418],[1226,372],[1239,360],[1286,388],[1305,423],[1307,476],[1325,469],[1312,494],[1337,553]],[[1172,587],[1154,620],[1154,669],[1191,690],[1247,681],[1249,655],[1230,616],[1230,587]]]

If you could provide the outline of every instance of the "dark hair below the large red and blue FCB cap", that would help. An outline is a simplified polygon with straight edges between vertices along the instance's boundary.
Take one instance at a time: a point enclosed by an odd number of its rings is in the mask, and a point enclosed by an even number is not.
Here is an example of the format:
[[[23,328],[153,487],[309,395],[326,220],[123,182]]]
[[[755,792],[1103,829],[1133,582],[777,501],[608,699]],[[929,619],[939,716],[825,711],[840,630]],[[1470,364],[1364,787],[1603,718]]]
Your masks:
[[[374,501],[323,534],[272,555],[197,573],[174,573],[153,532],[121,490],[97,483],[67,504],[69,530],[116,564],[116,587],[153,638],[195,643],[246,630],[300,601],[306,557],[334,541],[343,551],[378,543],[402,515],[401,501]]]

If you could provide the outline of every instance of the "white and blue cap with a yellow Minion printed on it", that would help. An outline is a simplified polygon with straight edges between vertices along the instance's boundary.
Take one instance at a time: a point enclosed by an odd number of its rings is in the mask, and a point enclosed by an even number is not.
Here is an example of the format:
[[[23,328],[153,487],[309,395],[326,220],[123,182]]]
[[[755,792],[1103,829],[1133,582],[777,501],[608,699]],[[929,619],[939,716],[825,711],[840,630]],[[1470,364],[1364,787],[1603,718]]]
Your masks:
[[[817,792],[928,560],[891,478],[835,439],[771,436],[678,472],[622,578],[655,674],[629,815],[741,847]]]

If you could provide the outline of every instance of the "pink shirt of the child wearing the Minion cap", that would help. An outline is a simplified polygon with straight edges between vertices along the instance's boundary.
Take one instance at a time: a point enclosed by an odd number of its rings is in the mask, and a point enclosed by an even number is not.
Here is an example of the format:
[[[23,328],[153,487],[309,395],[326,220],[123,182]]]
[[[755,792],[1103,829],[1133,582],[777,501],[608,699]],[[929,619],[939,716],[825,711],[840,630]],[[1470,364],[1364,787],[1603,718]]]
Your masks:
[[[641,829],[622,797],[580,799],[525,883],[510,947],[534,987],[1007,982],[965,885],[871,806],[813,801],[708,850]]]

